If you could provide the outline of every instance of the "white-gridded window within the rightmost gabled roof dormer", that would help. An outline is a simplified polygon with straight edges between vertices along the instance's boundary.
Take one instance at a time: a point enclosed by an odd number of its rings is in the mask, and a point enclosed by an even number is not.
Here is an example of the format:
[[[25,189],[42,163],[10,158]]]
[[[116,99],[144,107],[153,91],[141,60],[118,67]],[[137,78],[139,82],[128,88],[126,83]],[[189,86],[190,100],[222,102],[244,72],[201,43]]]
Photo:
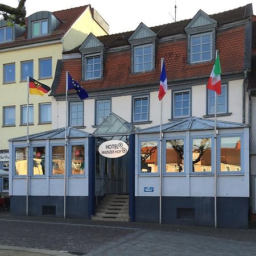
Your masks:
[[[191,63],[212,60],[212,34],[191,36]]]

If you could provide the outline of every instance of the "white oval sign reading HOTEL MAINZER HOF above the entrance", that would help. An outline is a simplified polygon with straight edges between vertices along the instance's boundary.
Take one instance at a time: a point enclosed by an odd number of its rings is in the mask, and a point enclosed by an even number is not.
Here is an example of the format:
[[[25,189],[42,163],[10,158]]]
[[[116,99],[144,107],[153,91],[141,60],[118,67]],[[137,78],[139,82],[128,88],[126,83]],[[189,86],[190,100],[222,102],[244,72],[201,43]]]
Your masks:
[[[123,141],[106,141],[98,147],[98,152],[106,158],[119,158],[128,152],[128,145]]]

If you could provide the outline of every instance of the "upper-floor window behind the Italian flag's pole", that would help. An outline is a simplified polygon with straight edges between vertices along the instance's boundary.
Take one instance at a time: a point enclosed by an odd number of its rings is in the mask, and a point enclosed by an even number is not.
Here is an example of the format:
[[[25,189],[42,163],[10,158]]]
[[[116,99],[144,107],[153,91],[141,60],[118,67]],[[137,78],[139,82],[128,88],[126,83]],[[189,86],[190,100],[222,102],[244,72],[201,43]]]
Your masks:
[[[217,94],[217,113],[228,112],[228,89],[227,85],[221,85],[221,94]],[[215,113],[215,92],[214,90],[208,90],[208,114]]]

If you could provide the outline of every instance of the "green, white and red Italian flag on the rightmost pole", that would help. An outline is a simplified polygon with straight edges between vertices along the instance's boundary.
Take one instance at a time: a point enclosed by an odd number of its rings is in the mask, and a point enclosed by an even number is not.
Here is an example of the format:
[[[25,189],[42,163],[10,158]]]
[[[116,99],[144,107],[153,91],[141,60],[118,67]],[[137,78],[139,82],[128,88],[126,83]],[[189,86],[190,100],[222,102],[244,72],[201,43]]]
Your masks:
[[[221,66],[220,56],[218,56],[218,53],[212,69],[212,73],[210,73],[207,88],[209,90],[214,90],[218,95],[221,94]]]

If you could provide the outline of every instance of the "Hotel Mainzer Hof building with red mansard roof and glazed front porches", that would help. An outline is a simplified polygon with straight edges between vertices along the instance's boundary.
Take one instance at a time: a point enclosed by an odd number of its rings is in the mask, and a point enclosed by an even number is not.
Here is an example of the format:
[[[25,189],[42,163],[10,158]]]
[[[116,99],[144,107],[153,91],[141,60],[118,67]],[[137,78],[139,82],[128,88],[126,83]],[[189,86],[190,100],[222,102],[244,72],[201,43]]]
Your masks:
[[[80,101],[75,91],[68,92],[69,126],[93,135],[87,134],[85,141],[76,139],[68,146],[69,154],[72,146],[82,146],[88,157],[88,169],[79,175],[71,171],[73,156],[68,158],[69,216],[90,218],[98,193],[129,193],[131,221],[159,221],[158,89],[164,57],[168,91],[163,98],[162,220],[214,225],[216,151],[217,224],[246,228],[250,205],[249,96],[245,71],[251,65],[253,17],[252,5],[213,15],[200,10],[193,19],[162,26],[148,28],[141,23],[135,31],[106,36],[91,33],[81,46],[64,52],[52,84],[52,127],[59,133],[65,126],[65,73],[69,71],[90,96]],[[214,92],[207,90],[206,84],[216,50],[220,52],[222,93],[218,96],[215,150]],[[47,135],[42,138],[45,141],[39,141],[40,137],[35,135],[32,143],[45,145],[49,160],[43,175],[38,176],[31,167],[30,197],[37,200],[39,209],[31,206],[32,214],[41,214],[47,200],[56,209],[62,209],[63,204],[60,198],[64,176],[63,172],[56,173],[53,158],[57,154],[55,146],[63,146],[64,138],[51,142]],[[129,154],[106,160],[97,148],[113,139],[128,142]],[[20,161],[14,152],[24,149],[24,141],[22,137],[10,142],[13,205],[20,201],[19,196],[26,195],[24,175],[15,173],[14,168]],[[106,180],[110,183],[108,188],[104,187]],[[45,183],[54,189],[36,191],[37,185]],[[71,202],[76,200],[82,201],[86,209],[79,212],[79,208],[72,208]],[[19,209],[14,208],[14,212],[24,213],[24,205],[17,205]],[[61,216],[61,210],[56,214]]]

